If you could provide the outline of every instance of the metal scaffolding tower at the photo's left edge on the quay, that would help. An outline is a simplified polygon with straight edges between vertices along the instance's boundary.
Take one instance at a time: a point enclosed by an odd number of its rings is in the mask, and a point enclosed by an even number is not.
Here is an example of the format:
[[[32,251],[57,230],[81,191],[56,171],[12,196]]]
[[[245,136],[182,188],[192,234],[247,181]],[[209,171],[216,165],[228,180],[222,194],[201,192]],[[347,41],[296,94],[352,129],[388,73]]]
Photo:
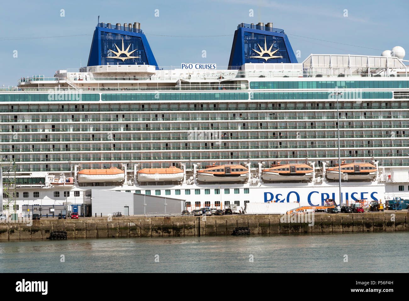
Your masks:
[[[17,218],[17,191],[16,191],[16,162],[2,159],[0,161],[0,212],[7,217],[13,213],[13,219]]]

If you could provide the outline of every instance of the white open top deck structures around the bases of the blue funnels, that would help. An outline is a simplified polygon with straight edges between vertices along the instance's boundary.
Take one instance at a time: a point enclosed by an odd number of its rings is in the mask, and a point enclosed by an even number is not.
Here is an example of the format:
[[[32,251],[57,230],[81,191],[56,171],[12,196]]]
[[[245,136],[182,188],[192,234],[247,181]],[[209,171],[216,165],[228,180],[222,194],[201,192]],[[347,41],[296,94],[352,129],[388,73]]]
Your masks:
[[[406,61],[396,57],[311,54],[303,63],[246,63],[240,70],[182,70],[152,65],[99,65],[57,70],[54,77],[19,79],[6,91],[58,90],[247,90],[251,81],[326,81],[354,78],[362,81],[408,77]],[[375,79],[376,78],[376,79]],[[321,79],[320,79],[321,80]],[[345,79],[344,79],[345,80]],[[398,79],[396,79],[398,80]],[[252,87],[250,87],[252,88]]]

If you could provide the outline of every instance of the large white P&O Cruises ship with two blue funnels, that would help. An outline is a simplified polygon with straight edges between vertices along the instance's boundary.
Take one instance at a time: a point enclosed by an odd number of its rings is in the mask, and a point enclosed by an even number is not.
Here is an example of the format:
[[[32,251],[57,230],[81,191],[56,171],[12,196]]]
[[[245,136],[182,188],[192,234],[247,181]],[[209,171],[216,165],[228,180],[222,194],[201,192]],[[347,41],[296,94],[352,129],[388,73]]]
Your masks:
[[[164,67],[138,22],[98,23],[86,67],[0,90],[3,212],[82,204],[90,188],[189,211],[407,198],[404,57],[396,46],[298,62],[283,29],[241,23],[227,66]]]

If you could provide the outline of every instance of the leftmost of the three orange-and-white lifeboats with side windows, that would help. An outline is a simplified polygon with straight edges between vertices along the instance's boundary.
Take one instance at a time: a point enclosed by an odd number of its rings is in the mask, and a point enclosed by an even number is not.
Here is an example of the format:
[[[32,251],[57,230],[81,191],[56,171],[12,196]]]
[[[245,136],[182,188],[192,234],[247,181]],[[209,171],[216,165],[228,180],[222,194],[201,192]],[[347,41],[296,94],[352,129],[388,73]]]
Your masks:
[[[202,182],[243,182],[248,177],[249,170],[242,165],[213,165],[198,171]]]

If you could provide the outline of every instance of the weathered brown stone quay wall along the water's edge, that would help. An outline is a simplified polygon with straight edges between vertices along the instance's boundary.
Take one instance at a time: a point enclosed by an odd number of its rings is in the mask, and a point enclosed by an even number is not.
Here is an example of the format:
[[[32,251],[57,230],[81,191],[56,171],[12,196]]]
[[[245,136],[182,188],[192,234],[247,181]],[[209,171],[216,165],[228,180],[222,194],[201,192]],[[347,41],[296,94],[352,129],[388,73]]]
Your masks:
[[[51,231],[67,231],[67,238],[169,237],[231,235],[249,227],[251,235],[408,231],[409,212],[315,214],[314,225],[280,215],[119,217],[25,222],[1,222],[0,241],[46,239]],[[283,222],[284,220],[284,222]]]

